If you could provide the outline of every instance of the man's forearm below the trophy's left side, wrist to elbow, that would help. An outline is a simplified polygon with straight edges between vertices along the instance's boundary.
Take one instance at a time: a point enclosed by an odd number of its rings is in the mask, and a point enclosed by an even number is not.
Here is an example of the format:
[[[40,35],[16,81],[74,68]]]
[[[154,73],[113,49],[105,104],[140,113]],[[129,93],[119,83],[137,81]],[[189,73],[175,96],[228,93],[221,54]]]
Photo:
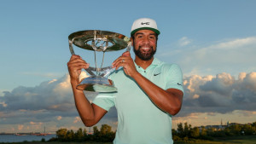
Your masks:
[[[73,96],[76,108],[79,112],[80,118],[83,123],[87,125],[95,124],[95,112],[93,107],[90,104],[90,101],[84,95],[83,90],[76,89],[76,86],[79,84],[76,80],[71,80],[71,85],[73,89]]]

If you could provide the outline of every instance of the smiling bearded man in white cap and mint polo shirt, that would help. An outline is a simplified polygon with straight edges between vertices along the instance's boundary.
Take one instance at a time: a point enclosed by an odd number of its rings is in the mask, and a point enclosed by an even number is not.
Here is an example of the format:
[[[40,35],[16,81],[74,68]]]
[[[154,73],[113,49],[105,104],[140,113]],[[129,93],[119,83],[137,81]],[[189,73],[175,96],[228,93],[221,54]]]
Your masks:
[[[182,106],[183,75],[177,65],[154,58],[159,34],[154,20],[134,21],[131,42],[135,60],[125,52],[113,61],[116,72],[109,79],[118,92],[99,94],[92,104],[82,90],[76,89],[81,69],[89,64],[79,55],[73,55],[67,63],[76,107],[86,126],[96,124],[111,107],[116,107],[119,124],[113,143],[173,143],[172,116]]]

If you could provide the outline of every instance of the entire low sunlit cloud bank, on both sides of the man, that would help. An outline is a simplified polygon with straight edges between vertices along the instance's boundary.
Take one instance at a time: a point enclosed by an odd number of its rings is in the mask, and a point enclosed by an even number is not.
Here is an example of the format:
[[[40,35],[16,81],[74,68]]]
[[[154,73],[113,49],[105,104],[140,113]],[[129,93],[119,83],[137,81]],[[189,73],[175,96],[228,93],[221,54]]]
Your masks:
[[[187,118],[188,122],[193,122],[196,118],[208,120],[218,113],[243,113],[244,117],[249,117],[253,113],[255,115],[256,72],[241,72],[237,78],[225,72],[215,76],[186,76],[183,88],[183,107],[174,117],[177,118],[174,119],[175,123],[185,122]],[[89,101],[96,95],[92,92],[84,93]],[[19,125],[24,125],[22,130],[28,128],[27,131],[43,130],[44,125],[55,125],[48,128],[51,131],[63,127],[84,127],[75,108],[68,75],[35,87],[20,86],[12,91],[5,91],[4,95],[0,96],[0,101],[1,126],[18,128]],[[117,111],[114,107],[97,125],[100,124],[110,124],[113,130],[116,129]]]

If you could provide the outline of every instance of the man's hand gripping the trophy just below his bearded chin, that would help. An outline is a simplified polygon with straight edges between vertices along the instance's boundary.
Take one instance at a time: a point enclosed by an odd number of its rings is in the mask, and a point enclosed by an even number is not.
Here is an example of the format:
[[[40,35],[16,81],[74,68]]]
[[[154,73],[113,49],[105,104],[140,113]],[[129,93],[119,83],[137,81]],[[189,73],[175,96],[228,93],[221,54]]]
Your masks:
[[[137,69],[134,65],[129,51],[126,51],[117,60],[113,61],[112,67],[115,67],[115,69],[117,70],[119,69],[119,66],[123,66],[125,74],[127,74],[131,78],[133,78],[133,76],[137,74]]]

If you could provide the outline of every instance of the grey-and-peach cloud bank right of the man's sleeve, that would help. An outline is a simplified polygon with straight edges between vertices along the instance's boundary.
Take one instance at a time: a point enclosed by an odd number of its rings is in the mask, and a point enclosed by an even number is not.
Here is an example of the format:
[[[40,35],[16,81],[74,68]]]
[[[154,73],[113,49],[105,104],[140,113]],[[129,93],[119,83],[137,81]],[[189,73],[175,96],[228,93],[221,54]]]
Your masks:
[[[256,72],[241,72],[237,79],[225,72],[215,77],[192,75],[184,78],[183,85],[185,95],[180,115],[256,111]]]

